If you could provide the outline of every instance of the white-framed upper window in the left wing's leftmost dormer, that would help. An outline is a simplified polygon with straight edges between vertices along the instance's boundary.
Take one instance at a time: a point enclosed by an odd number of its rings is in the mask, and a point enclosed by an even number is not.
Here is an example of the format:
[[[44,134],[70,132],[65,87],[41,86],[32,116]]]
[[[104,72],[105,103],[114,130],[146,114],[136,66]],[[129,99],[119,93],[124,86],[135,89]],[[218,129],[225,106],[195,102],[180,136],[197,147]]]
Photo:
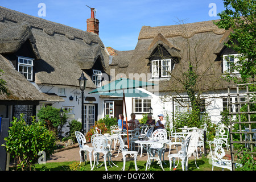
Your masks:
[[[30,72],[28,72],[28,68],[31,68]],[[22,75],[24,75],[24,77],[26,77],[27,80],[29,81],[33,81],[33,77],[34,77],[33,68],[34,68],[34,59],[18,56],[18,72],[22,73]],[[31,75],[31,78],[28,78],[28,75]]]

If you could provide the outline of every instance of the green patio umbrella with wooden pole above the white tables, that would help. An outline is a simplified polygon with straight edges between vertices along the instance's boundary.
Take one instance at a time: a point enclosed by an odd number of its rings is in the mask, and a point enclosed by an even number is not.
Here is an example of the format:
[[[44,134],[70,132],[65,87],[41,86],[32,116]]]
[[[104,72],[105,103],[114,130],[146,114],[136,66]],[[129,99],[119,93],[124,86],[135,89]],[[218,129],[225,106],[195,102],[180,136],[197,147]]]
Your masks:
[[[149,94],[144,93],[137,88],[143,88],[146,86],[153,86],[153,85],[155,84],[152,84],[150,82],[131,80],[127,78],[119,78],[118,80],[112,81],[109,84],[101,86],[100,88],[97,88],[89,93],[96,93],[96,94],[105,95],[105,96],[123,97],[123,105],[125,107],[125,115],[126,115],[126,126],[128,126],[125,97],[148,97],[150,96]],[[129,148],[128,128],[127,128],[127,143]]]

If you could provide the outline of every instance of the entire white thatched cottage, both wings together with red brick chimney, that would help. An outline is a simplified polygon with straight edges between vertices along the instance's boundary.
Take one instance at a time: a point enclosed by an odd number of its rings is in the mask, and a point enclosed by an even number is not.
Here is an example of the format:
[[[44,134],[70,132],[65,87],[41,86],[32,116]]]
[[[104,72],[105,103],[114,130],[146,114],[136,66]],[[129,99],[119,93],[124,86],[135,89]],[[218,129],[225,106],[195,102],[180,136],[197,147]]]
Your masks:
[[[88,131],[106,114],[117,117],[122,113],[122,98],[88,93],[109,78],[122,76],[158,84],[144,90],[151,97],[127,98],[128,119],[132,111],[142,118],[150,106],[155,118],[160,113],[172,118],[176,111],[189,110],[183,82],[190,60],[199,75],[196,88],[202,97],[201,111],[208,111],[213,122],[220,121],[220,111],[227,107],[228,85],[221,76],[230,71],[232,61],[223,57],[235,54],[224,47],[229,31],[211,21],[143,26],[135,49],[118,51],[101,42],[93,13],[87,22],[96,27],[81,31],[0,7],[0,68],[5,71],[1,78],[11,92],[10,97],[0,96],[2,117],[28,116],[51,104],[68,110],[70,119],[81,121],[84,99]],[[84,98],[77,81],[82,72],[88,78]]]

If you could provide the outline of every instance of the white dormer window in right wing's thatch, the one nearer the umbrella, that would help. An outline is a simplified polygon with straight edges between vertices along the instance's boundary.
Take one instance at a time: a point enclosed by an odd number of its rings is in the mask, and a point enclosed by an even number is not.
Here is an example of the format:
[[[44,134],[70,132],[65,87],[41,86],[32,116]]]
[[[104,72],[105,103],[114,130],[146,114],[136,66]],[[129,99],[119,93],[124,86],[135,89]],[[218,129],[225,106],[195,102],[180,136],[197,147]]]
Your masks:
[[[152,78],[170,77],[172,68],[172,60],[152,60],[151,61],[151,73]]]

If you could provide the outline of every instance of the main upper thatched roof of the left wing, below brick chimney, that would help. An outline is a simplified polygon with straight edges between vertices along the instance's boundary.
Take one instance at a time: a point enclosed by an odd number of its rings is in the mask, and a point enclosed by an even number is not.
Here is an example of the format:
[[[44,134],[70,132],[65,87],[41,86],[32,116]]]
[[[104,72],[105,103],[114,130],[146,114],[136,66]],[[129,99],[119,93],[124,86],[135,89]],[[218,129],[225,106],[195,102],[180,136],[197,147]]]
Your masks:
[[[36,55],[36,84],[79,86],[82,70],[92,68],[98,57],[109,70],[109,55],[97,34],[0,6],[0,53],[14,53],[27,40]],[[85,76],[86,87],[96,88]]]

